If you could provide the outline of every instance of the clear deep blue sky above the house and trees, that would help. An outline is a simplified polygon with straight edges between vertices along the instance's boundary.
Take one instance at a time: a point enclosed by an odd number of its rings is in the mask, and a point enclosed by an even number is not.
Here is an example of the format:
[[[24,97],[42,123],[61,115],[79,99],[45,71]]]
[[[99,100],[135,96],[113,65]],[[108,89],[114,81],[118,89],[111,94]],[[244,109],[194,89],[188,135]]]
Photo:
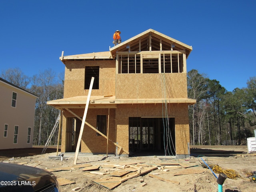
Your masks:
[[[65,55],[108,51],[150,28],[192,46],[187,70],[228,91],[256,76],[255,0],[1,0],[0,70],[63,73]]]

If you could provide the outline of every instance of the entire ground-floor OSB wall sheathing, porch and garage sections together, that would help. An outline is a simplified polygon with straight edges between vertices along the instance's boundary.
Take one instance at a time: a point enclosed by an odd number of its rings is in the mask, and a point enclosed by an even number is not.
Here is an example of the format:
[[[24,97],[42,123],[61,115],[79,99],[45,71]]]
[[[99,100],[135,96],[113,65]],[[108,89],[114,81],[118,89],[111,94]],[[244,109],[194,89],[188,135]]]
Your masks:
[[[167,104],[168,116],[175,117],[176,154],[189,154],[189,126],[187,104]],[[83,109],[72,109],[79,116],[83,116]],[[64,111],[64,115],[72,114]],[[88,109],[86,121],[96,127],[96,116],[108,115],[108,109]],[[116,117],[115,117],[116,116]],[[162,117],[162,104],[118,104],[116,109],[110,109],[109,138],[120,146],[129,149],[129,117]],[[115,118],[115,119],[114,119]],[[64,127],[62,142],[64,142]],[[64,144],[64,143],[62,143]],[[62,147],[64,148],[64,146]],[[65,148],[64,148],[65,149]],[[109,142],[109,153],[114,153],[116,147]],[[96,132],[85,126],[81,144],[82,152],[106,153],[106,139],[96,136]],[[63,149],[62,149],[62,152]],[[125,154],[121,152],[121,154]]]

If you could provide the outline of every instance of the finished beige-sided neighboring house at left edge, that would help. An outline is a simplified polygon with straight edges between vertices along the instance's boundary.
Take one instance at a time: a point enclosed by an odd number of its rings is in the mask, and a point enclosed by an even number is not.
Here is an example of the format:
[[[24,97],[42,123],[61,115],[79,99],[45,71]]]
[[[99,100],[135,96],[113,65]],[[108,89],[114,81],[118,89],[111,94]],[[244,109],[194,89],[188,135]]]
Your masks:
[[[36,98],[0,78],[0,149],[32,148]]]

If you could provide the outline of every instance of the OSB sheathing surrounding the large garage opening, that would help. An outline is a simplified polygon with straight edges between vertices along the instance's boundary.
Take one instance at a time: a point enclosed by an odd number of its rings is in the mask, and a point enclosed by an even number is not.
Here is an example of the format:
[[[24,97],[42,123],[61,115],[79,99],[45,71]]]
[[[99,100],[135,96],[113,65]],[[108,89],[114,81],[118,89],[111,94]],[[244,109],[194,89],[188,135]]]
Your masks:
[[[176,154],[189,154],[188,105],[168,104],[167,108],[168,116],[175,118]],[[119,104],[116,109],[117,142],[128,147],[129,117],[162,117],[162,111],[162,104]]]

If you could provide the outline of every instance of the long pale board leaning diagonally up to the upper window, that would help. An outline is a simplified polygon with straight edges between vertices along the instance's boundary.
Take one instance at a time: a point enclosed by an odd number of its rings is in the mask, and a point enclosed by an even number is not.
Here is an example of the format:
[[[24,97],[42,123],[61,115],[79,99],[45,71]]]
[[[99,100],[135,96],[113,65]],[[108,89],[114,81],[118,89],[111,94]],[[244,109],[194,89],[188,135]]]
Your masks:
[[[80,144],[81,144],[82,134],[84,132],[84,123],[85,123],[85,119],[86,119],[86,115],[87,115],[87,111],[88,111],[88,106],[89,106],[89,102],[90,102],[90,97],[91,97],[91,93],[92,93],[93,82],[94,82],[94,77],[92,77],[89,92],[88,92],[88,96],[87,96],[87,100],[86,100],[86,105],[85,105],[85,109],[84,109],[84,116],[83,116],[83,119],[82,119],[80,133],[79,133],[79,136],[78,136],[78,142],[76,144],[76,153],[75,153],[75,157],[74,157],[74,164],[76,164],[77,158],[78,158],[78,152],[79,152],[79,148],[80,148]]]

